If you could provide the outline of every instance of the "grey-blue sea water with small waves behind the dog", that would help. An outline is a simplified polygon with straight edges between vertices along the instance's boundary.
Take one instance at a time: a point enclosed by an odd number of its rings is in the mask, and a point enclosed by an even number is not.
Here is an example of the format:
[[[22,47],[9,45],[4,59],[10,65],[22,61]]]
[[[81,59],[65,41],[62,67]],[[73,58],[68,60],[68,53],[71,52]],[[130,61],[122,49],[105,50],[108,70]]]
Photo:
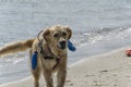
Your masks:
[[[131,45],[131,0],[0,0],[0,46],[52,25],[73,30],[69,64]],[[31,75],[28,51],[0,59],[0,84]]]

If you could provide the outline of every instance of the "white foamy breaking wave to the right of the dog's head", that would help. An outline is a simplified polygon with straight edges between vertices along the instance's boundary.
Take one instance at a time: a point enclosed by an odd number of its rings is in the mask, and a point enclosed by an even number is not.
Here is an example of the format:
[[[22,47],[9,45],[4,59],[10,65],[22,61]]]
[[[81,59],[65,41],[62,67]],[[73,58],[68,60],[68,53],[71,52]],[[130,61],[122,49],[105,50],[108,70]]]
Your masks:
[[[72,41],[75,46],[98,41],[124,39],[131,37],[130,27],[100,27],[92,30],[74,32]]]

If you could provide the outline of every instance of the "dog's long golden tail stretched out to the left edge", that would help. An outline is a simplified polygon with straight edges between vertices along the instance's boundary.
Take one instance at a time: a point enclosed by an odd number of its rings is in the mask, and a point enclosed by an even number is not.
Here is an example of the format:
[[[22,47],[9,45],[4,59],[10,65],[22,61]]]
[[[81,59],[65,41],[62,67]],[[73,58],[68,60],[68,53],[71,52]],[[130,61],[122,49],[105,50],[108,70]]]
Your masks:
[[[13,44],[5,45],[4,47],[0,48],[0,57],[3,54],[14,53],[19,51],[25,51],[32,48],[32,45],[35,39],[27,39],[24,41],[17,41]]]

